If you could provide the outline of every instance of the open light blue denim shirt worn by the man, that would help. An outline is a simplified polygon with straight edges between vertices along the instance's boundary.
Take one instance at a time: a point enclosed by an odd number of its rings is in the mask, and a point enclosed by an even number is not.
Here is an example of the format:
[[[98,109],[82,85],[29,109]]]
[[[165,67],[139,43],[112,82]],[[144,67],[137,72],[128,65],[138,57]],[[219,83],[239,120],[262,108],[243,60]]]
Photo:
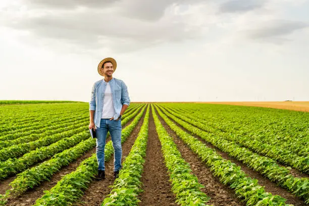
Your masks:
[[[115,109],[114,120],[119,118],[122,105],[130,105],[130,98],[126,84],[120,80],[113,78],[109,81],[113,94],[113,103]],[[94,124],[100,127],[102,116],[102,108],[104,101],[106,84],[104,79],[94,82],[91,90],[91,99],[89,101],[89,110],[94,110]],[[103,108],[104,110],[104,108]]]

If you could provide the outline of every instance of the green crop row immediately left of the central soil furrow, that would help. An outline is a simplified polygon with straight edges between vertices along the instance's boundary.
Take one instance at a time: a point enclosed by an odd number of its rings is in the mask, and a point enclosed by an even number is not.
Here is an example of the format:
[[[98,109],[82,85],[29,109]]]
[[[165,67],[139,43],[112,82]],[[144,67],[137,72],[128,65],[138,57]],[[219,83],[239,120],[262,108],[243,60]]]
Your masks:
[[[148,121],[149,106],[147,107],[143,125],[140,128],[134,145],[123,163],[119,177],[114,182],[113,190],[110,192],[109,197],[104,199],[102,205],[131,206],[137,205],[140,201],[137,195],[142,191],[140,177],[145,162],[144,157],[146,156]]]

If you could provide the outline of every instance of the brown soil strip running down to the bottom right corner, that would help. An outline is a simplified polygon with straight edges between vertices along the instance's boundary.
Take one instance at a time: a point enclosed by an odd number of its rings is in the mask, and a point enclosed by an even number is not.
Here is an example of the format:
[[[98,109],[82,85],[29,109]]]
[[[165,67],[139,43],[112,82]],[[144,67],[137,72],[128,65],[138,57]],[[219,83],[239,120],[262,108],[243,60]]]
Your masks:
[[[172,119],[170,119],[171,121],[173,121]],[[163,120],[161,120],[163,121]],[[188,130],[184,129],[182,126],[180,126],[179,124],[177,124],[175,121],[173,121],[179,128],[181,128],[182,130],[184,130],[185,132],[191,134]],[[169,131],[169,133],[172,136],[176,136],[175,132],[172,131],[170,129],[170,127],[164,122],[163,124],[165,127],[168,127],[167,131]],[[216,151],[222,156],[222,158],[226,159],[226,160],[230,160],[232,163],[235,163],[237,166],[240,166],[241,170],[246,173],[249,177],[251,178],[255,178],[259,180],[259,184],[261,186],[265,187],[265,190],[268,192],[271,192],[274,195],[280,195],[281,197],[287,199],[286,203],[289,204],[294,204],[294,206],[301,206],[301,205],[305,205],[304,201],[301,200],[300,198],[296,197],[295,195],[291,194],[290,192],[288,192],[287,190],[285,190],[284,188],[277,186],[276,183],[270,181],[268,178],[265,178],[264,176],[262,176],[260,173],[248,168],[247,166],[245,166],[244,164],[242,164],[240,161],[236,160],[233,157],[230,157],[227,153],[221,151],[219,148],[215,147],[214,145],[206,142],[205,140],[203,140],[202,138],[191,134],[192,136],[194,136],[195,138],[197,138],[198,140],[200,140],[201,142],[203,142],[204,144],[206,144],[208,147],[210,148],[214,148],[216,149]],[[178,138],[175,138],[178,139]],[[178,141],[180,141],[178,139]],[[188,148],[189,149],[189,148]],[[187,157],[188,155],[185,154],[184,157]],[[196,158],[198,158],[196,156]],[[197,161],[196,161],[197,162]],[[193,164],[196,164],[196,162],[192,162]]]

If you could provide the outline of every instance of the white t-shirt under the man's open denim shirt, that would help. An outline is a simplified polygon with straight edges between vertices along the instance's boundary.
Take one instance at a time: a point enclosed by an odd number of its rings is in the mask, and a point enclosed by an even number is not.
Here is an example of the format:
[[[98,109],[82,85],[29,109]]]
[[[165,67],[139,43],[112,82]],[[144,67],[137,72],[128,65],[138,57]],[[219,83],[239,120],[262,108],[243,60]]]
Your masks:
[[[105,94],[104,94],[104,101],[103,101],[103,109],[102,109],[101,119],[111,119],[115,115],[113,94],[112,94],[110,84],[108,82],[105,82],[105,84],[107,84],[107,85],[106,85],[106,90],[105,90]]]

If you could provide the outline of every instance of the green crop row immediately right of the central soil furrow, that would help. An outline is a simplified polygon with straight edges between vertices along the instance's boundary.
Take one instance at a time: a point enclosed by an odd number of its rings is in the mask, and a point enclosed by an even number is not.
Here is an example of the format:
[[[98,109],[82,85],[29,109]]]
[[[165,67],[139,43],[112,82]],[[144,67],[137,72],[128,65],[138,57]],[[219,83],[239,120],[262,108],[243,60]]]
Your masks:
[[[195,175],[191,174],[188,163],[182,159],[173,138],[162,126],[152,106],[152,116],[162,145],[163,157],[168,168],[172,192],[176,194],[176,202],[180,205],[207,205],[210,198],[200,191],[204,186],[198,183]]]

